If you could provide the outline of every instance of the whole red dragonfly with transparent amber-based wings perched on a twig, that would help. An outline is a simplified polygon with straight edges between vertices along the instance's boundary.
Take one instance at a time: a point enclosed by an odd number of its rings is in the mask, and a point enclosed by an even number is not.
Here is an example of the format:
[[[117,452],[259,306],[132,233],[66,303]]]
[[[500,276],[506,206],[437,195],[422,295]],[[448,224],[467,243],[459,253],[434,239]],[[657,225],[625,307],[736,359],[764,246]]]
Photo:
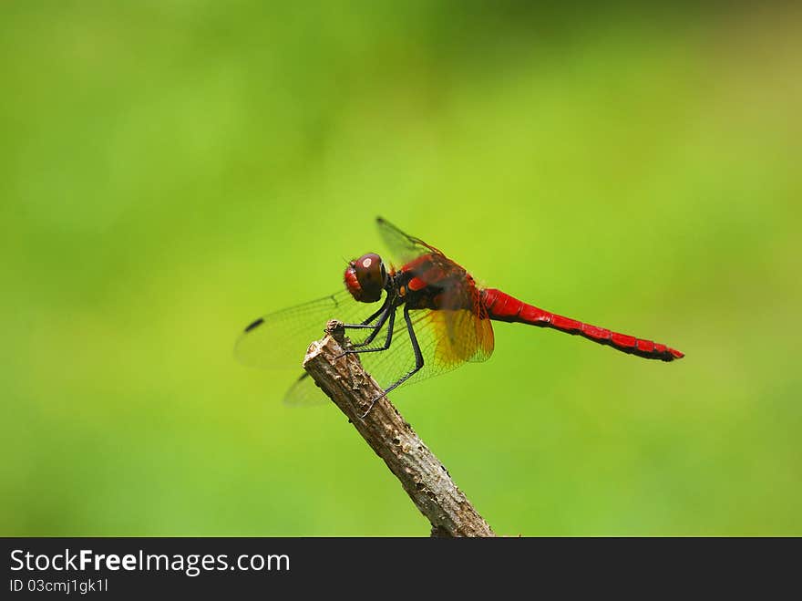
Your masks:
[[[494,320],[551,327],[647,359],[684,357],[663,344],[590,326],[496,288],[479,287],[463,267],[431,244],[382,218],[377,223],[400,267],[386,264],[375,253],[350,261],[344,290],[259,317],[238,340],[237,357],[246,365],[297,367],[303,349],[320,337],[325,323],[334,318],[349,330],[353,347],[347,352],[360,354],[365,368],[386,387],[385,394],[405,382],[444,373],[467,361],[488,359],[493,353],[490,323]],[[379,301],[381,305],[365,316],[363,304]],[[396,317],[398,309],[401,319]],[[304,373],[285,400],[298,403],[320,398],[321,393]]]

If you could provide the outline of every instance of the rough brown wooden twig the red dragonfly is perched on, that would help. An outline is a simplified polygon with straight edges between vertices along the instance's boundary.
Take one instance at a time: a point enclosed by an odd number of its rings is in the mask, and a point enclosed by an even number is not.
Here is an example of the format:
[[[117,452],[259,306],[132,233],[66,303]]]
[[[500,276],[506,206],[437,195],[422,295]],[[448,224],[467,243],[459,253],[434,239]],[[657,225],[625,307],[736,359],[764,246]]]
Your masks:
[[[365,373],[357,354],[343,355],[342,324],[329,322],[326,336],[309,347],[303,368],[354,424],[432,524],[432,536],[495,536],[451,476],[389,399],[362,415],[382,389]]]

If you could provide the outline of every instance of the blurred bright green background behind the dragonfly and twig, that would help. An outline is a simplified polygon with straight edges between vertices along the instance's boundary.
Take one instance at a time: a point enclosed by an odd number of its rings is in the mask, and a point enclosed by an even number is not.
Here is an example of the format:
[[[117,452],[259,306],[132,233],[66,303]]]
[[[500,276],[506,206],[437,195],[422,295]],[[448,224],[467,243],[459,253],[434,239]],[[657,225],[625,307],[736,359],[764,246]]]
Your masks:
[[[377,214],[687,354],[499,324],[399,389],[499,534],[802,534],[800,17],[3,3],[0,534],[427,535],[337,409],[232,357]]]

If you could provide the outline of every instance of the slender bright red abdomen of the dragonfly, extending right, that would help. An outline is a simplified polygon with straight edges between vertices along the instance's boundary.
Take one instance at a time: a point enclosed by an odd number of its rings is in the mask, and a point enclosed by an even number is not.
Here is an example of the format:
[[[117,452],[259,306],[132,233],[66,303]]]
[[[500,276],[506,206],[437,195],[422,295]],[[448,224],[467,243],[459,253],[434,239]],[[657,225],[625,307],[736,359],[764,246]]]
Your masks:
[[[519,301],[496,288],[485,288],[480,294],[490,319],[529,324],[530,326],[552,327],[561,332],[579,335],[598,342],[600,345],[608,345],[624,353],[647,359],[673,361],[684,357],[684,353],[652,340],[619,334],[604,327],[591,326],[575,319],[549,313],[537,306]]]

